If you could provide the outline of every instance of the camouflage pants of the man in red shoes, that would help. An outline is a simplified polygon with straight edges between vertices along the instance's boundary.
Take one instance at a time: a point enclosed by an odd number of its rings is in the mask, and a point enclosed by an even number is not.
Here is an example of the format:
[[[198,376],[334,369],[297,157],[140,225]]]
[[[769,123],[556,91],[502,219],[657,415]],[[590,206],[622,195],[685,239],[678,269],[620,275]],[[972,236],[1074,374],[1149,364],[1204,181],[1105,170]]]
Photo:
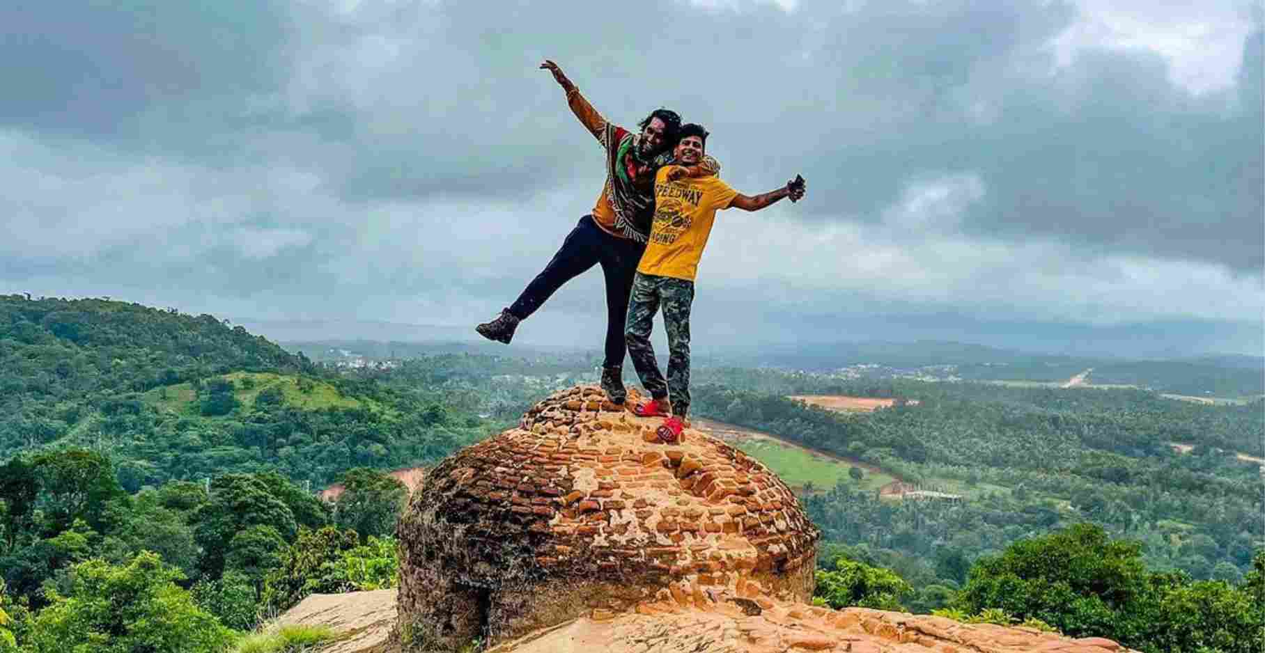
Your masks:
[[[629,357],[641,385],[655,399],[670,395],[672,413],[686,417],[689,410],[689,306],[694,301],[694,282],[636,273],[629,298],[629,318],[624,328]],[[650,331],[654,313],[663,306],[663,325],[668,330],[668,380],[664,383],[654,360]]]

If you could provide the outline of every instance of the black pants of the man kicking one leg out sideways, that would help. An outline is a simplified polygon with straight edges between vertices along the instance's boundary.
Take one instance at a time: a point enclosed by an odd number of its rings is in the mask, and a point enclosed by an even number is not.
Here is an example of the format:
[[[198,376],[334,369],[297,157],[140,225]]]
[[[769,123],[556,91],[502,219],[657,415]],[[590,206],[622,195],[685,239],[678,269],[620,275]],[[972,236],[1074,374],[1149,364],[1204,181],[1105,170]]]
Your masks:
[[[579,219],[576,229],[567,234],[562,249],[554,254],[545,269],[531,279],[522,294],[510,306],[510,313],[526,320],[545,303],[545,299],[598,263],[606,277],[606,361],[607,368],[624,365],[624,321],[632,293],[632,277],[641,261],[645,245],[632,239],[612,236],[593,222],[593,216]]]

